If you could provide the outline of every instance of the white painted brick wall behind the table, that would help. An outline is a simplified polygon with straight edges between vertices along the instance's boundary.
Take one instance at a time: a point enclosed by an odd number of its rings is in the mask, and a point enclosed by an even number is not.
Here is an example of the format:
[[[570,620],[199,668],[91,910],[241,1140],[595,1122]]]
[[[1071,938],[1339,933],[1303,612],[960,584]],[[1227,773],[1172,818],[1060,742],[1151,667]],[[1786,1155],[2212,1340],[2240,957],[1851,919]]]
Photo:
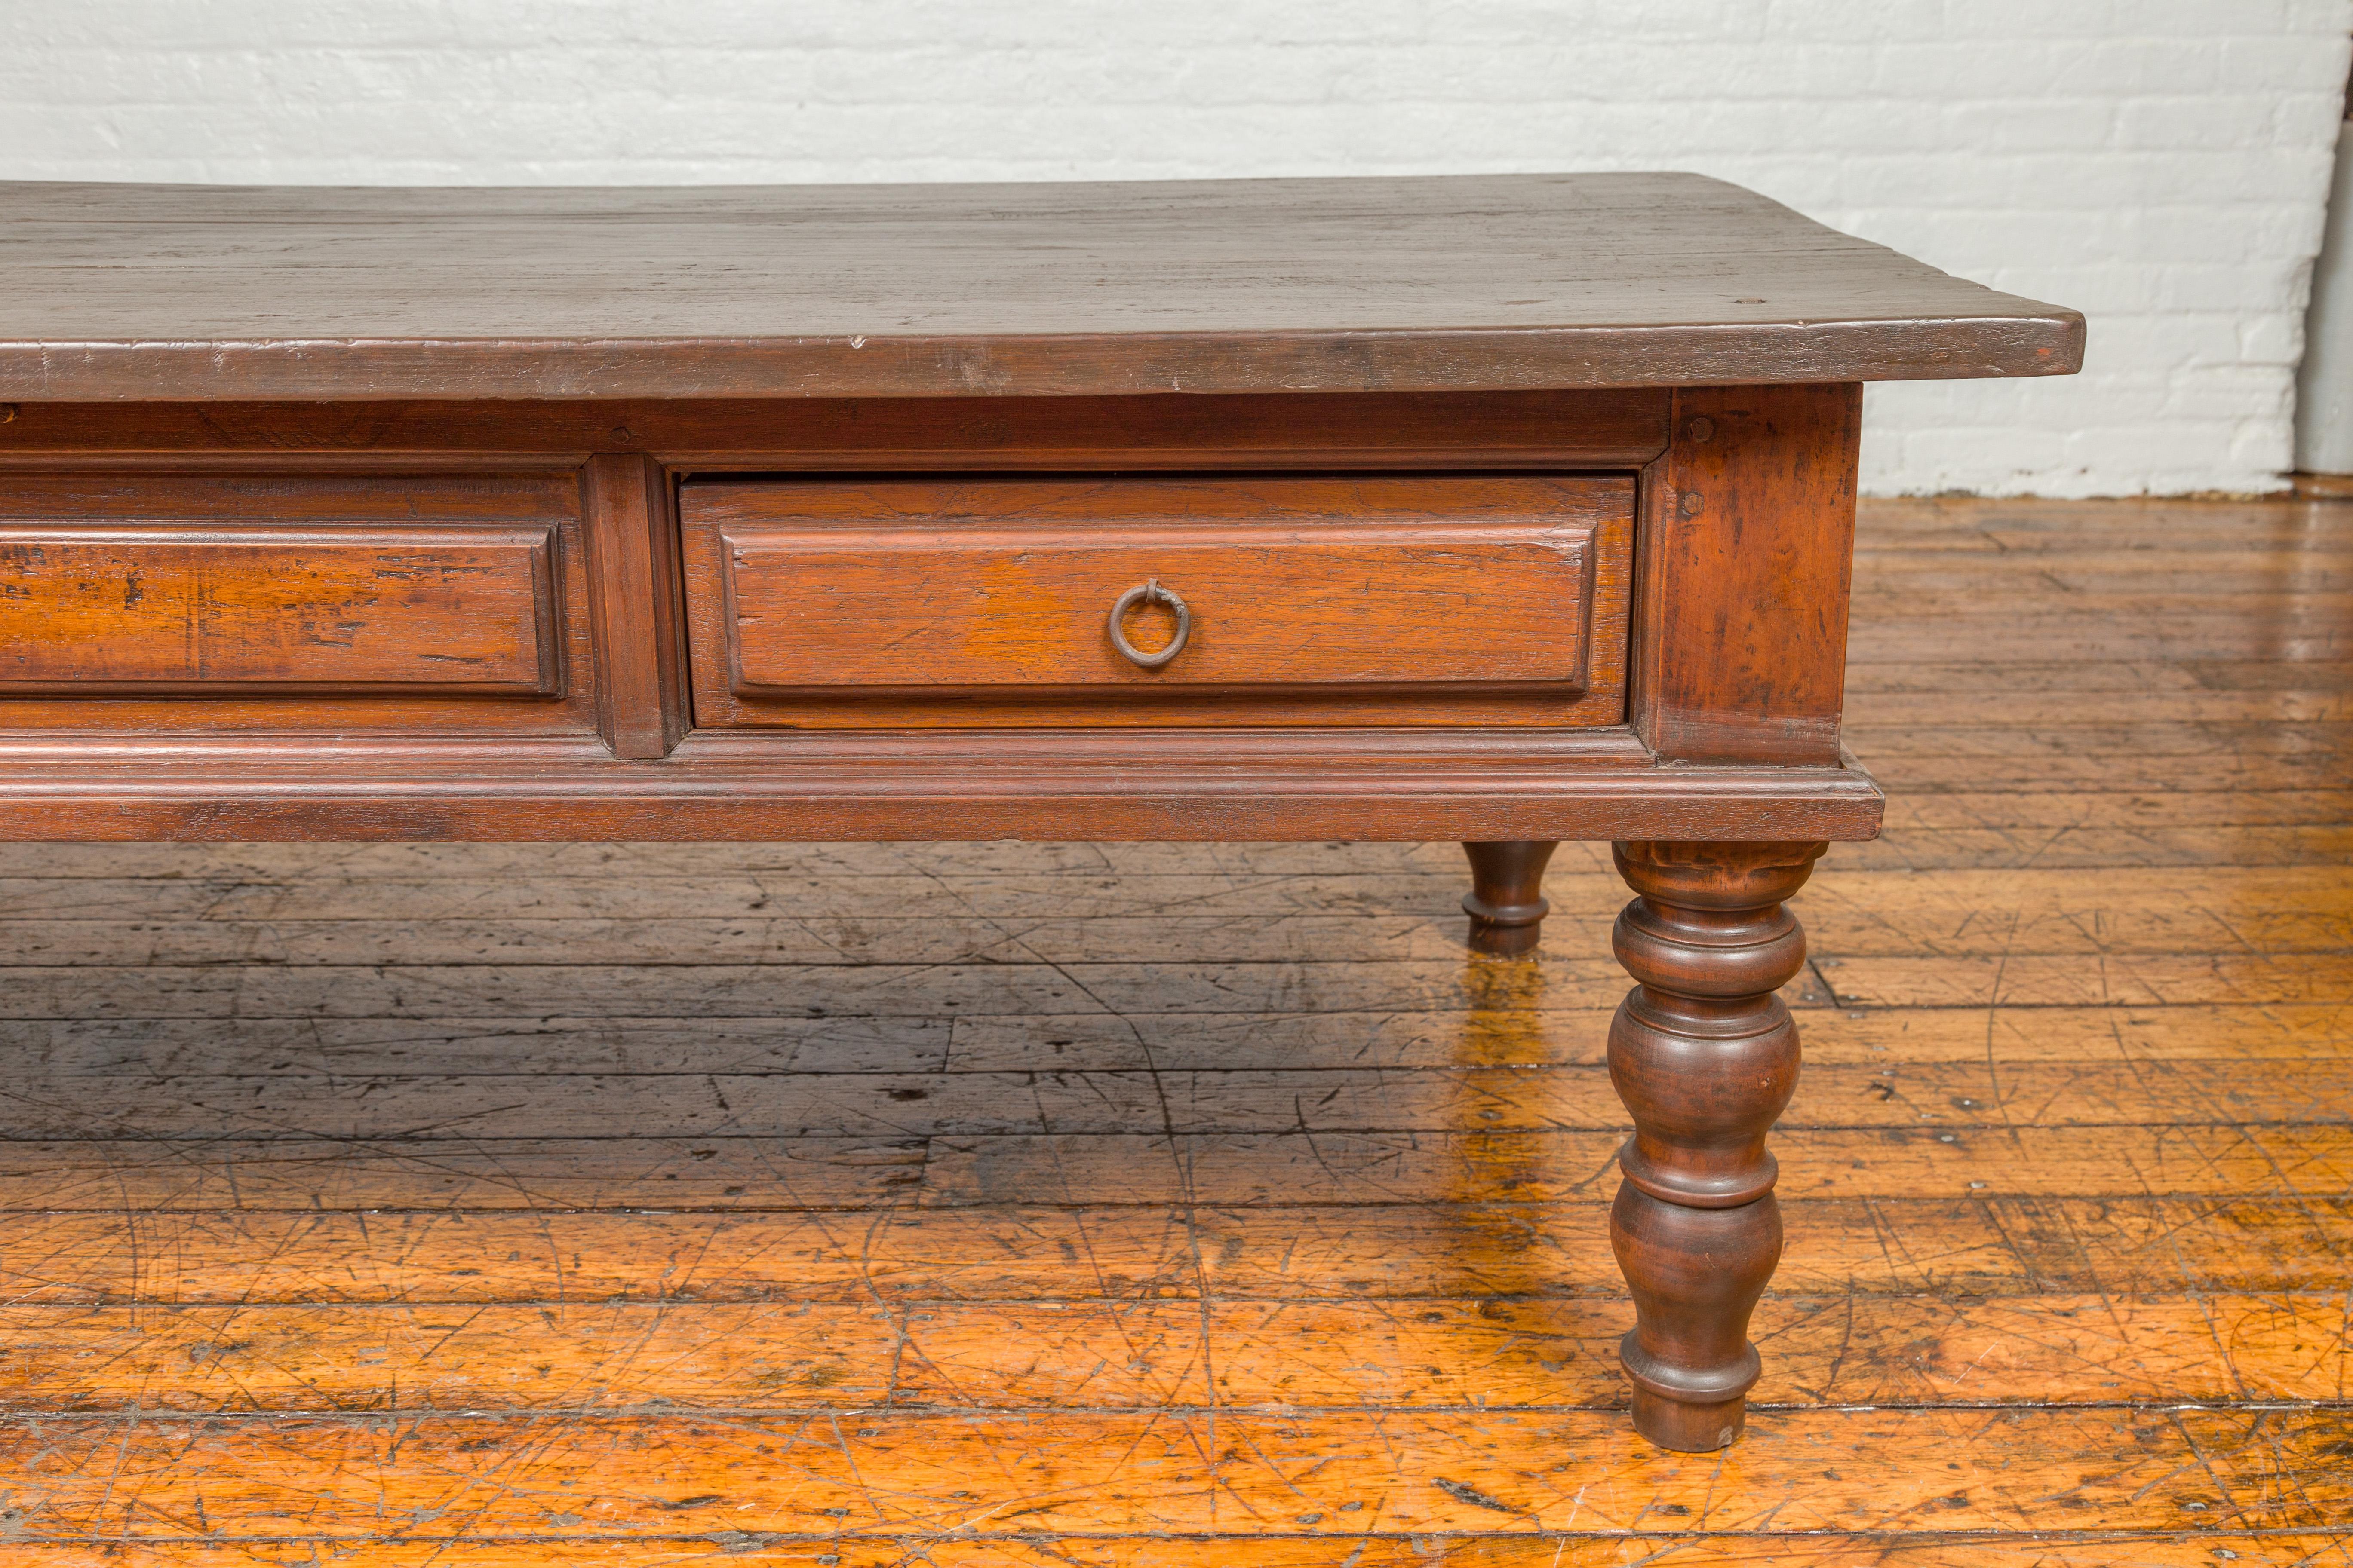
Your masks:
[[[0,0],[0,176],[306,183],[1699,169],[2082,308],[1882,386],[1873,491],[2249,491],[2353,0]]]

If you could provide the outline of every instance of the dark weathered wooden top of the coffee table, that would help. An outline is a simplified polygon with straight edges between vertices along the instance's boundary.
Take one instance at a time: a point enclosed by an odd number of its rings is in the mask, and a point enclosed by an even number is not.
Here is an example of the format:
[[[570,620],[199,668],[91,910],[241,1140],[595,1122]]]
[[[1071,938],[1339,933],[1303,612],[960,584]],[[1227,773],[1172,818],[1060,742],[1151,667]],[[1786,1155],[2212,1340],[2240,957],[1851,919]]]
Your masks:
[[[2073,310],[1697,174],[0,183],[0,400],[1511,390],[2080,362]]]

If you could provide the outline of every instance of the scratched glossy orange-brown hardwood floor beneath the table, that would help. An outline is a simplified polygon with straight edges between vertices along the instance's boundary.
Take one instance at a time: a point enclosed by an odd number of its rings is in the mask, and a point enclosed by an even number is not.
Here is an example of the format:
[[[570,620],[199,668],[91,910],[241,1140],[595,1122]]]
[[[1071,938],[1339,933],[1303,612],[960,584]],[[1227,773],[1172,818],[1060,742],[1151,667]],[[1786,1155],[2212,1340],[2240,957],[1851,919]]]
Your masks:
[[[2353,505],[1873,505],[1746,1441],[1607,846],[0,846],[0,1561],[2353,1561]]]

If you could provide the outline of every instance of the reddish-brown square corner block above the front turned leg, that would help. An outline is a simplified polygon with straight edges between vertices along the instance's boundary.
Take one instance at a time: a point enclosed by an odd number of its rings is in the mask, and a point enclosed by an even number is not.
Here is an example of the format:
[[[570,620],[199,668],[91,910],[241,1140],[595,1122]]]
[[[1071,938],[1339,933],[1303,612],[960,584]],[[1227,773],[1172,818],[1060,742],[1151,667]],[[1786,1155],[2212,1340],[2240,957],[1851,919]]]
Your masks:
[[[1678,388],[1635,588],[1661,757],[1838,762],[1861,418],[1861,386]]]

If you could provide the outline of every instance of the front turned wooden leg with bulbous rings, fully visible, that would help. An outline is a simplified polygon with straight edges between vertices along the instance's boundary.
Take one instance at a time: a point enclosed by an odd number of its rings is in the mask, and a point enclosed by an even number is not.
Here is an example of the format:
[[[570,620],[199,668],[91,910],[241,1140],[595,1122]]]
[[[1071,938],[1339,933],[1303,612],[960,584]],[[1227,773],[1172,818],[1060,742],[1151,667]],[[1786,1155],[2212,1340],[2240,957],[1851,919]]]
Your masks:
[[[1774,992],[1805,964],[1781,900],[1824,849],[1617,846],[1635,900],[1612,945],[1638,985],[1609,1020],[1609,1081],[1635,1133],[1609,1244],[1633,1291],[1633,1425],[1661,1448],[1729,1443],[1758,1380],[1748,1314],[1781,1260],[1765,1131],[1798,1086],[1798,1025]]]

